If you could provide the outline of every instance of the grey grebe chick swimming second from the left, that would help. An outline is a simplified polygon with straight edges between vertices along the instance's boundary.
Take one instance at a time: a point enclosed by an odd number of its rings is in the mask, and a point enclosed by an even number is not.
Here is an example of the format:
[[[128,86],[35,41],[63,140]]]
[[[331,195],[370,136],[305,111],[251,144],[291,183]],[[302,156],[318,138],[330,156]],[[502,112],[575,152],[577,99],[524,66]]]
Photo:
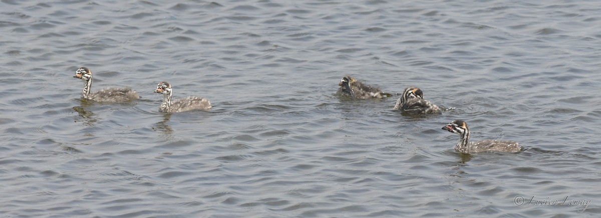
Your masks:
[[[161,103],[159,107],[160,112],[175,113],[192,110],[208,110],[212,107],[207,98],[194,96],[171,101],[172,91],[171,84],[168,82],[160,82],[159,85],[156,86],[154,92],[163,94],[163,103]]]

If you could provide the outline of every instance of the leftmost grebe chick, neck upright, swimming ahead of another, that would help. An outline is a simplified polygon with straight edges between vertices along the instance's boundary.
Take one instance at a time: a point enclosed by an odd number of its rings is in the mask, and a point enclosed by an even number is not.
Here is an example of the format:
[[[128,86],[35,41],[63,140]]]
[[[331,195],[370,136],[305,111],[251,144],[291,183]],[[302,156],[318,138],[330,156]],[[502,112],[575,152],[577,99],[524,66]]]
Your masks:
[[[84,80],[81,98],[102,102],[124,102],[140,98],[138,93],[131,88],[103,88],[97,92],[91,92],[92,71],[87,67],[79,68],[73,77]]]

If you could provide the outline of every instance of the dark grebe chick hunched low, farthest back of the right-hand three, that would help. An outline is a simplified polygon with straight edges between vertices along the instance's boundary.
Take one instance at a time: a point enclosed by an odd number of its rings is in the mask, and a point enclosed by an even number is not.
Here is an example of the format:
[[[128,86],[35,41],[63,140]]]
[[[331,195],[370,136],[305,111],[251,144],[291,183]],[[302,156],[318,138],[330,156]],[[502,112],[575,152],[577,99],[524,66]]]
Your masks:
[[[359,99],[367,99],[367,98],[385,98],[391,97],[392,94],[382,92],[379,88],[374,88],[368,85],[365,85],[359,80],[351,76],[345,76],[340,80],[340,88],[338,89],[338,94],[340,95],[349,95],[353,98]]]

